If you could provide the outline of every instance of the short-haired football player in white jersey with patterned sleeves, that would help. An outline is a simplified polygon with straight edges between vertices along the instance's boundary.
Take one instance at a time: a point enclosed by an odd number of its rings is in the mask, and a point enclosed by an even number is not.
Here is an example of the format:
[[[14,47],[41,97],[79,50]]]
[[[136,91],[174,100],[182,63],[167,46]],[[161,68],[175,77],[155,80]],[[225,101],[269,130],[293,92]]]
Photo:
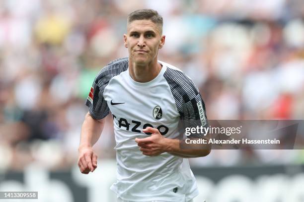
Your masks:
[[[129,57],[116,59],[99,72],[86,101],[89,112],[81,129],[78,166],[84,174],[97,167],[92,146],[111,111],[117,182],[110,189],[118,201],[189,202],[198,195],[186,158],[206,156],[210,149],[181,149],[179,136],[184,136],[178,122],[184,127],[206,126],[205,106],[189,77],[157,60],[164,43],[162,17],[156,11],[129,14],[124,34]]]

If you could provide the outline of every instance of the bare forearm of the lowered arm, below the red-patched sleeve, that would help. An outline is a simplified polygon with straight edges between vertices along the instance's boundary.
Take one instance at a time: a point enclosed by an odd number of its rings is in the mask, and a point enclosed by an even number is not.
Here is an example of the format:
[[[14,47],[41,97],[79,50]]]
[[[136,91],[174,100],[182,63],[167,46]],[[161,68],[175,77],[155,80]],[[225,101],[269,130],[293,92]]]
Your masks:
[[[79,149],[83,147],[92,147],[99,139],[103,126],[103,119],[95,120],[87,113],[81,127]]]

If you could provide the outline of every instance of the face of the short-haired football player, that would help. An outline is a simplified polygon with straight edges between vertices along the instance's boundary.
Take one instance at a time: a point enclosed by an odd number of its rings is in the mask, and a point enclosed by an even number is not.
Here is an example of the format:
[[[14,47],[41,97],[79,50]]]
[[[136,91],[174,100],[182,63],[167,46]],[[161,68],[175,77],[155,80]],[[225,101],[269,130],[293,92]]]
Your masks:
[[[151,20],[134,20],[124,34],[124,44],[129,57],[135,64],[148,65],[157,61],[158,49],[164,45],[165,36],[161,36],[158,26]]]

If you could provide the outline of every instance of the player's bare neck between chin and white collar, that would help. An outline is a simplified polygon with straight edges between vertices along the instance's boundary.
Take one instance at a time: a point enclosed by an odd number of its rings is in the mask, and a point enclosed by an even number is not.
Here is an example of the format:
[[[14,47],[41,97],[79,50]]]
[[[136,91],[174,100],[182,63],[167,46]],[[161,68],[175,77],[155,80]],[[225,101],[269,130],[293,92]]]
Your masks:
[[[148,64],[136,64],[129,57],[129,74],[136,82],[146,83],[153,80],[161,70],[157,58]]]

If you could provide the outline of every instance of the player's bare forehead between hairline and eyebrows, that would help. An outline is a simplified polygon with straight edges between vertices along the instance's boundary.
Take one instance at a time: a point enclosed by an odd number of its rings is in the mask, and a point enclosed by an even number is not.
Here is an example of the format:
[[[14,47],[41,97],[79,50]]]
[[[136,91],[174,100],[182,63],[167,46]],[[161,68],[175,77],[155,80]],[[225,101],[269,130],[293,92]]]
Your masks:
[[[146,32],[154,31],[159,33],[159,27],[151,20],[134,20],[127,26],[127,31],[130,32]]]

